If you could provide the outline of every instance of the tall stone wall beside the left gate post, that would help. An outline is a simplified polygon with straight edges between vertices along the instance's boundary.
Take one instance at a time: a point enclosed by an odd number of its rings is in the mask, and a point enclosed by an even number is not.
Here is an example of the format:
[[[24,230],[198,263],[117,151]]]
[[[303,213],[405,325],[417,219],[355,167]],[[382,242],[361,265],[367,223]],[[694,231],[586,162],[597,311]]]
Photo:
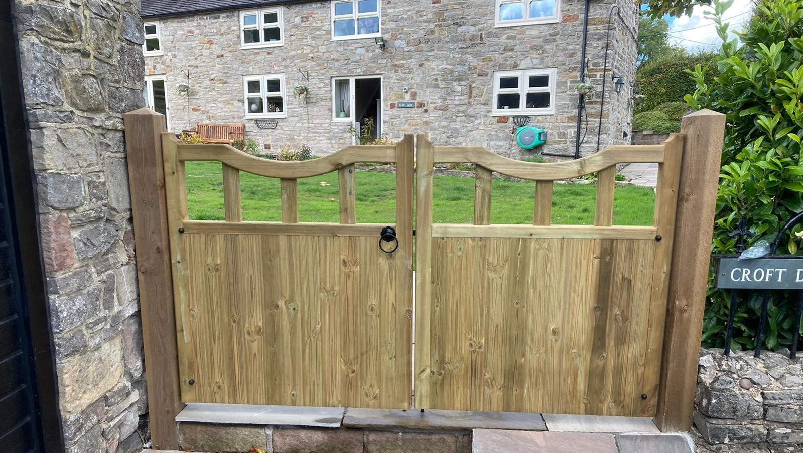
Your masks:
[[[142,107],[137,0],[16,2],[68,453],[140,451],[147,411],[122,114]]]

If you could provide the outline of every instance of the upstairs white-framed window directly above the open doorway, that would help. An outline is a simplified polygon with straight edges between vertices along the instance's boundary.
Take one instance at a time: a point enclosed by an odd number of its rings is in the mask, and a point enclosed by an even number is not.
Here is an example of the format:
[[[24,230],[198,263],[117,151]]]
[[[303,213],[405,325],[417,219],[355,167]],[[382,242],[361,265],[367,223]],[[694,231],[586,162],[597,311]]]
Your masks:
[[[332,39],[381,36],[381,0],[332,0]]]

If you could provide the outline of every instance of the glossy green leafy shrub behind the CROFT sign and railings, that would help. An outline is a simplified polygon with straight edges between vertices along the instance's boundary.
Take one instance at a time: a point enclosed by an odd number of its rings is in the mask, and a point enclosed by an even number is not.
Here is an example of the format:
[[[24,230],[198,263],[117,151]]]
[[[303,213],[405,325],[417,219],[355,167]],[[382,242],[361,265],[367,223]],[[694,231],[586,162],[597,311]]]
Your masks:
[[[726,115],[723,167],[717,192],[713,251],[736,253],[740,216],[755,233],[750,243],[774,241],[792,216],[803,212],[803,3],[800,0],[762,0],[740,41],[728,41],[722,22],[730,2],[715,2],[717,33],[724,42],[714,66],[698,64],[691,73],[696,89],[687,95],[694,108],[710,108]],[[778,253],[796,253],[794,233],[781,238]],[[711,276],[712,277],[712,276]],[[755,346],[761,310],[761,292],[740,303],[732,347]],[[777,350],[789,345],[797,297],[773,291],[762,347]],[[744,295],[743,295],[744,297]],[[730,299],[709,287],[703,346],[724,346]]]

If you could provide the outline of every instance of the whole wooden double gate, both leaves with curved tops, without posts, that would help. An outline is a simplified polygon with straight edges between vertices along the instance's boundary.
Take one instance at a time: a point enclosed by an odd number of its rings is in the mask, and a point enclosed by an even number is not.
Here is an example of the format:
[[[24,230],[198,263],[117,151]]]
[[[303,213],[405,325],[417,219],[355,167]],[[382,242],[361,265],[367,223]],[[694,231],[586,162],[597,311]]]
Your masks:
[[[656,414],[683,135],[554,164],[426,135],[298,163],[162,150],[181,401]],[[188,216],[200,160],[222,163],[225,221]],[[356,221],[361,162],[395,164],[393,253]],[[440,163],[475,164],[473,224],[433,223]],[[660,164],[652,226],[612,224],[626,163]],[[299,223],[296,180],[335,171],[340,223]],[[281,180],[282,222],[243,221],[240,172]],[[492,172],[536,181],[532,224],[491,224]],[[550,224],[553,181],[591,173],[595,223]]]

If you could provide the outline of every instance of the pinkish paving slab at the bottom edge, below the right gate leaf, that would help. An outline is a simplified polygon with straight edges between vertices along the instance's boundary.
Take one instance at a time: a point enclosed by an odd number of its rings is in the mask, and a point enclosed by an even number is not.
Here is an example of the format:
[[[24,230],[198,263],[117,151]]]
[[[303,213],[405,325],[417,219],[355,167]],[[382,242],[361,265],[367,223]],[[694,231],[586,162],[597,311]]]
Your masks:
[[[473,453],[617,453],[613,435],[474,430]]]

